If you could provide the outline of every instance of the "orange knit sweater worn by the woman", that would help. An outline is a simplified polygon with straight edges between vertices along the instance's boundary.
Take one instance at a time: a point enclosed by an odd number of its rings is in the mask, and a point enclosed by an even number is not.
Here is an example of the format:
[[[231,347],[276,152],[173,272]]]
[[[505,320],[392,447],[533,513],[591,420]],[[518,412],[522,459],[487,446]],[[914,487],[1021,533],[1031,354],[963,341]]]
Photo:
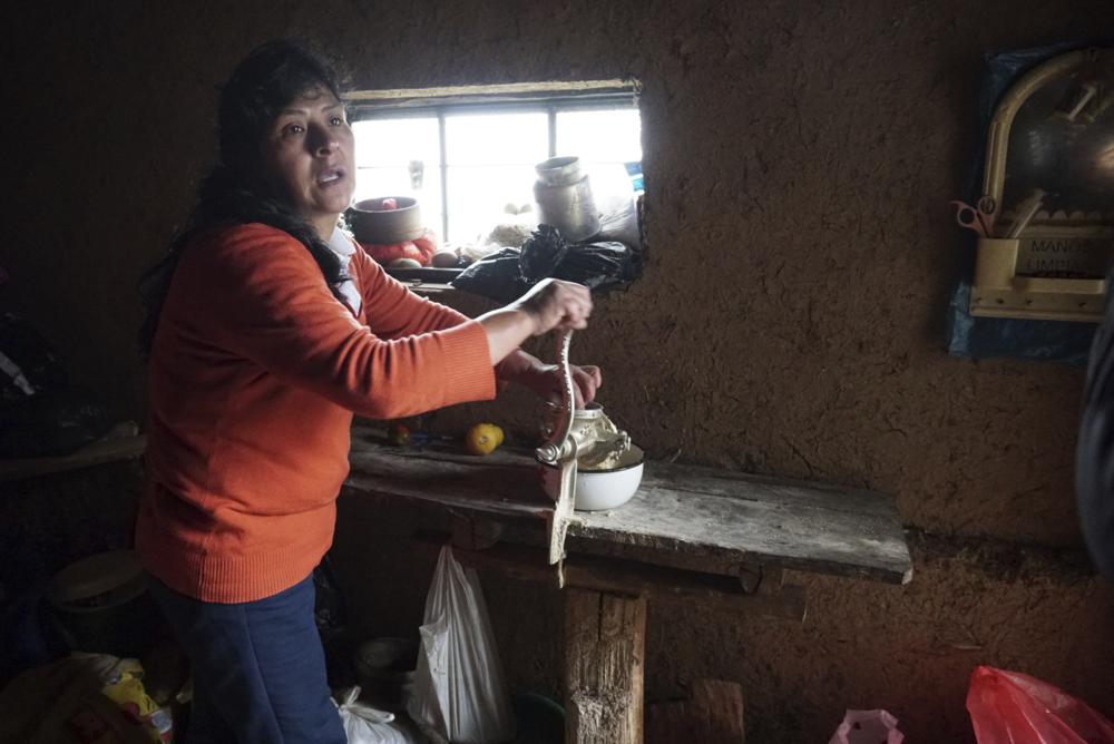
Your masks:
[[[251,601],[332,542],[352,411],[391,419],[495,395],[479,323],[418,297],[358,249],[359,316],[301,243],[209,232],[175,271],[152,347],[136,550],[170,588]]]

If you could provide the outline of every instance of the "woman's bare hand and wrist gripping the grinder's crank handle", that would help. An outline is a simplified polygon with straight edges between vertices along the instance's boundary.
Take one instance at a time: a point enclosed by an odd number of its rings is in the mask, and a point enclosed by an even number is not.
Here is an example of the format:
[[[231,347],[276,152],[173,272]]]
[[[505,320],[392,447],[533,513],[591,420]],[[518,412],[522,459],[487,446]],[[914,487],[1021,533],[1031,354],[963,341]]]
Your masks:
[[[530,336],[553,330],[586,329],[592,293],[573,282],[543,280],[506,307],[478,319],[488,336],[491,363],[498,364]]]

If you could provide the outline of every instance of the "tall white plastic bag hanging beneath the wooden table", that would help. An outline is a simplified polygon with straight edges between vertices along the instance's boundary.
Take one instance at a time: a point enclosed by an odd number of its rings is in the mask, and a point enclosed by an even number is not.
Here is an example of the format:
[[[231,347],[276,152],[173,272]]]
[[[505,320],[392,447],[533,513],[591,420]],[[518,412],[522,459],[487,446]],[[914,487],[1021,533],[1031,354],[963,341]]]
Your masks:
[[[515,714],[491,637],[476,571],[441,548],[426,598],[414,692],[414,721],[455,744],[494,744],[515,737]]]

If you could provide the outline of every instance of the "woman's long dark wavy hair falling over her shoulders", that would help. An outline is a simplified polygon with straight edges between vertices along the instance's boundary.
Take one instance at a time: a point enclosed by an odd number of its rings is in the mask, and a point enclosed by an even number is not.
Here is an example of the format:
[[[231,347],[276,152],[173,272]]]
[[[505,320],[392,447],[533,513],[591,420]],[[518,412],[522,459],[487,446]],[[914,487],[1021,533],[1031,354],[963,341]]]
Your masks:
[[[261,144],[292,100],[321,88],[340,98],[341,86],[336,69],[324,56],[285,39],[257,47],[233,70],[221,89],[217,164],[201,182],[197,202],[172,239],[169,251],[139,282],[147,310],[139,331],[144,358],[150,352],[182,251],[197,233],[209,227],[257,222],[290,233],[306,247],[330,290],[340,296],[340,260],[266,177]]]

